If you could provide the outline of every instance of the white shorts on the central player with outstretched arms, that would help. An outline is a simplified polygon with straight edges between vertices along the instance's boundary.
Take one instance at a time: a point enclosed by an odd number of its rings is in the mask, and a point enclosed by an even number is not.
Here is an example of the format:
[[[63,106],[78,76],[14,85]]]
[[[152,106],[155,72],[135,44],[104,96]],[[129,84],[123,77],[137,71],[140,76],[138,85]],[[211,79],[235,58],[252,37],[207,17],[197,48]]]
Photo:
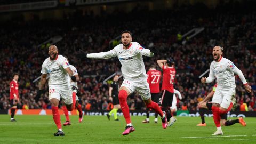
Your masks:
[[[130,94],[134,91],[137,91],[140,94],[142,100],[148,100],[151,98],[149,84],[147,81],[133,83],[132,81],[124,79],[121,87],[122,86],[126,87],[129,90]]]

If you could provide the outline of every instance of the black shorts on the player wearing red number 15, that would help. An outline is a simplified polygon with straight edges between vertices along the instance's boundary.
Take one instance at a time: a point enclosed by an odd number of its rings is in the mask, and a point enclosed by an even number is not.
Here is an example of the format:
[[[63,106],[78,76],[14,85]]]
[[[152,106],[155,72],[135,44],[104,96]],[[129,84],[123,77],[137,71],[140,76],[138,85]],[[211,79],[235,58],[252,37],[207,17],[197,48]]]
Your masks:
[[[161,98],[159,98],[159,105],[161,105],[162,107],[171,107],[172,99],[173,99],[173,93],[167,90],[163,90]]]

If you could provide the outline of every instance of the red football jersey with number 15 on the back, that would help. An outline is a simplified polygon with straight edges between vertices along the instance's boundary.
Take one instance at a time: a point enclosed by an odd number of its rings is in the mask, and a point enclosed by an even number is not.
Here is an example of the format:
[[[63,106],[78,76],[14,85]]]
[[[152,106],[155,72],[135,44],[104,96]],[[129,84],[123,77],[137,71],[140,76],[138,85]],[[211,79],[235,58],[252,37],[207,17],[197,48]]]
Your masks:
[[[174,82],[175,74],[176,74],[176,70],[174,67],[166,67],[163,65],[162,90],[167,90],[171,93],[174,93],[173,82]]]

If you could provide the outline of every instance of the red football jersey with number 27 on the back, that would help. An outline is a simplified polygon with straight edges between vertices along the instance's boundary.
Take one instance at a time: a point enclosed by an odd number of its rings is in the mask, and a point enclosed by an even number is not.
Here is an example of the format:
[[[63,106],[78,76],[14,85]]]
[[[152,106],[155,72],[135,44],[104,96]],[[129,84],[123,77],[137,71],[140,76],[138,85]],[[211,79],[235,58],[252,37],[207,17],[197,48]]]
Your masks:
[[[150,92],[151,93],[159,93],[160,92],[160,77],[161,77],[161,71],[159,70],[149,70],[147,73],[148,76],[148,84],[149,84],[149,88],[150,88]]]

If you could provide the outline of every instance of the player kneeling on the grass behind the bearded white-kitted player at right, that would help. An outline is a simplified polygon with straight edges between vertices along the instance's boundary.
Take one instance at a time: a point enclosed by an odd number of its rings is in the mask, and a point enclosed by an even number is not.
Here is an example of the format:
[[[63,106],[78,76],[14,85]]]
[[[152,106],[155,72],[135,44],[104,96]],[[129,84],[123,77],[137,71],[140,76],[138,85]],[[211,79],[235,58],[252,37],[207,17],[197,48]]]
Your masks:
[[[212,91],[201,102],[198,103],[199,114],[200,114],[202,122],[197,124],[197,126],[206,126],[206,123],[204,121],[204,113],[205,113],[205,110],[212,110],[212,102],[210,102],[211,101],[210,99],[213,97],[216,87],[217,87],[217,83],[213,86]],[[235,95],[233,95],[233,96],[231,98],[231,103],[233,104],[233,107],[234,107],[234,105],[236,105],[236,98],[235,98]],[[245,123],[243,117],[239,117],[238,119],[227,121],[227,114],[223,114],[220,116],[220,119],[221,119],[220,120],[221,124],[223,126],[230,126],[235,123],[240,123],[242,126],[246,126],[246,123]]]

